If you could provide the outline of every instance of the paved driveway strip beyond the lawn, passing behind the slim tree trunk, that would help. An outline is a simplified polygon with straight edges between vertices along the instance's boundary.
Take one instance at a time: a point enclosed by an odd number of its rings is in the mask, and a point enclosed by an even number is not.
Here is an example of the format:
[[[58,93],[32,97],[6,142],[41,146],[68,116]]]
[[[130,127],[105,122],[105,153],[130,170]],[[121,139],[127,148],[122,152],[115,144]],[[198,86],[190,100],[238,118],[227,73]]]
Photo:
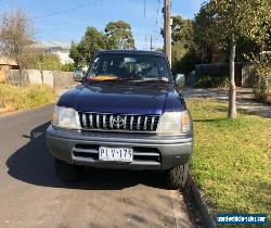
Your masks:
[[[228,102],[228,91],[221,89],[183,88],[181,93],[184,98],[216,99]],[[251,89],[236,88],[236,104],[241,111],[271,118],[271,105],[257,102]]]

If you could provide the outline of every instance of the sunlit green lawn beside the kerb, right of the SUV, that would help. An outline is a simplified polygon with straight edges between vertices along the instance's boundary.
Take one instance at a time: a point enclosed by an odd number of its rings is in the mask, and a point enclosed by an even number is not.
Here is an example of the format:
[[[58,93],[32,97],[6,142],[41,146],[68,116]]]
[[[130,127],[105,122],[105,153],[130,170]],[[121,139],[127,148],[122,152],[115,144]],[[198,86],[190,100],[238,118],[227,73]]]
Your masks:
[[[192,175],[211,213],[271,212],[271,119],[238,114],[227,104],[189,99],[194,121]]]

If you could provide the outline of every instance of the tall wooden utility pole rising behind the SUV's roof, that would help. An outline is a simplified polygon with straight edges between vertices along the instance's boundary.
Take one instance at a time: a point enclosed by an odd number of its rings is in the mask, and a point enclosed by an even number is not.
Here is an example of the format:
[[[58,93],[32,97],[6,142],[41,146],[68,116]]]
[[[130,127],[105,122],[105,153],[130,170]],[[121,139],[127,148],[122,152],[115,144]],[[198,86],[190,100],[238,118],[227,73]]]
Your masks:
[[[171,65],[171,4],[170,0],[164,0],[164,48]]]

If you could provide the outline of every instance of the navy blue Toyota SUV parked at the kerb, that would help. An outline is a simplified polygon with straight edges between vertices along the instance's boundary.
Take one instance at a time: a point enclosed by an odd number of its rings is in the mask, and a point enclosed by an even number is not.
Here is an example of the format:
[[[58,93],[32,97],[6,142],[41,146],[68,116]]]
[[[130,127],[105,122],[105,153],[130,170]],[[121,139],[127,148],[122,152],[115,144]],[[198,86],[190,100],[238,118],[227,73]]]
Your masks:
[[[165,170],[185,185],[192,154],[190,112],[167,58],[151,51],[101,51],[80,85],[56,103],[47,142],[57,174],[74,181],[83,166]]]

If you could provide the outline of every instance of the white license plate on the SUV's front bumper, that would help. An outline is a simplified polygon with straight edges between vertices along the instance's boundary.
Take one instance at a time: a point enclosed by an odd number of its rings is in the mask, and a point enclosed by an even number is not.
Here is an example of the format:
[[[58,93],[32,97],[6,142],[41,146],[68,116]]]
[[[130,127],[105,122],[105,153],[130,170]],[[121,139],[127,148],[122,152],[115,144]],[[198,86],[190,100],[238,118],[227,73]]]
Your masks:
[[[112,162],[132,162],[131,148],[99,148],[99,160]]]

